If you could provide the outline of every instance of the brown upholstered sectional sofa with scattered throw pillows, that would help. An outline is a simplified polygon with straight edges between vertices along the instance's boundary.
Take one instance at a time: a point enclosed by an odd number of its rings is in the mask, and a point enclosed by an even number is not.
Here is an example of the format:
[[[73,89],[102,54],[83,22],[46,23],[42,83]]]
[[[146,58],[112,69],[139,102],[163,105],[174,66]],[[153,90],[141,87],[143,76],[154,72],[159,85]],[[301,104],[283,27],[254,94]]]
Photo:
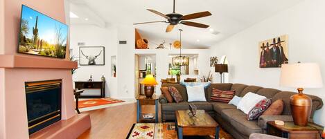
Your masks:
[[[175,120],[176,110],[189,109],[188,104],[192,103],[197,106],[197,109],[204,109],[234,138],[249,138],[252,133],[265,133],[266,122],[272,120],[292,121],[290,115],[290,96],[294,92],[279,91],[277,89],[267,89],[260,86],[248,86],[245,84],[211,84],[209,89],[205,90],[207,102],[187,102],[186,88],[180,84],[162,84],[162,86],[175,86],[179,93],[184,98],[184,102],[168,103],[164,95],[161,95],[159,102],[161,103],[161,118],[163,121]],[[222,102],[210,102],[212,88],[222,91],[236,91],[236,95],[243,97],[246,93],[252,92],[259,95],[264,95],[266,98],[271,98],[272,102],[282,99],[285,106],[281,115],[262,115],[258,120],[248,121],[245,113],[236,109],[232,104]],[[321,109],[323,106],[322,99],[314,95],[308,95],[313,100],[312,113],[310,119],[313,119],[315,110]]]

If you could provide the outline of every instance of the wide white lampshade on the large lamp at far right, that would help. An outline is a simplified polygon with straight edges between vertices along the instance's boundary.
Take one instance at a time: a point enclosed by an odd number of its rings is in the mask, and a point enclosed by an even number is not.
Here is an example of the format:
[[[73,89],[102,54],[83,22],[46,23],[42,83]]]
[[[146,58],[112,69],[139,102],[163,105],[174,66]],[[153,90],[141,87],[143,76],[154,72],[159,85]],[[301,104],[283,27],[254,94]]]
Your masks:
[[[282,64],[280,85],[296,88],[322,88],[319,65],[315,63]]]

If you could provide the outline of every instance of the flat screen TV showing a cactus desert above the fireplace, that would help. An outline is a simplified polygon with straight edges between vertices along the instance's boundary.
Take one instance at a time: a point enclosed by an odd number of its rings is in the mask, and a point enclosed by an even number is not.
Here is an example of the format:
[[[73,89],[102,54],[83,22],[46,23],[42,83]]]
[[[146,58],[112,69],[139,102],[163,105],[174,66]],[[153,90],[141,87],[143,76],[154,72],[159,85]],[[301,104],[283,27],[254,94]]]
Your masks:
[[[18,53],[65,58],[68,26],[21,6]]]

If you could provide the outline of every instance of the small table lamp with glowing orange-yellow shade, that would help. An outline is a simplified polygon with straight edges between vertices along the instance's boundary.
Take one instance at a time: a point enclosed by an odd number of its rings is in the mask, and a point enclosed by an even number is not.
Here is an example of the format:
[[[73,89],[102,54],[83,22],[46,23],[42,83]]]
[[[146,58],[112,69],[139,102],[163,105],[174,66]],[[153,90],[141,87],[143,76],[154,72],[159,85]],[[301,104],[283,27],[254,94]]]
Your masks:
[[[144,93],[147,98],[152,98],[153,93],[155,93],[155,85],[158,83],[153,75],[146,75],[144,80],[140,83],[144,85]]]

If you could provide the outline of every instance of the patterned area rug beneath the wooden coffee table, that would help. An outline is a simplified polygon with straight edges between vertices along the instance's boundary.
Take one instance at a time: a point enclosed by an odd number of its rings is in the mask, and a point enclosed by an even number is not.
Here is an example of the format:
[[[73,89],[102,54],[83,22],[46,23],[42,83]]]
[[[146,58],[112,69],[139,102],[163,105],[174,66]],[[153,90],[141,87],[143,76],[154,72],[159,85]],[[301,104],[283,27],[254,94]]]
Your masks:
[[[184,138],[204,138],[214,139],[213,136],[184,136]],[[220,129],[220,139],[232,139],[231,135]],[[133,124],[130,132],[128,133],[127,139],[177,139],[177,132],[175,131],[175,123],[137,123]]]

